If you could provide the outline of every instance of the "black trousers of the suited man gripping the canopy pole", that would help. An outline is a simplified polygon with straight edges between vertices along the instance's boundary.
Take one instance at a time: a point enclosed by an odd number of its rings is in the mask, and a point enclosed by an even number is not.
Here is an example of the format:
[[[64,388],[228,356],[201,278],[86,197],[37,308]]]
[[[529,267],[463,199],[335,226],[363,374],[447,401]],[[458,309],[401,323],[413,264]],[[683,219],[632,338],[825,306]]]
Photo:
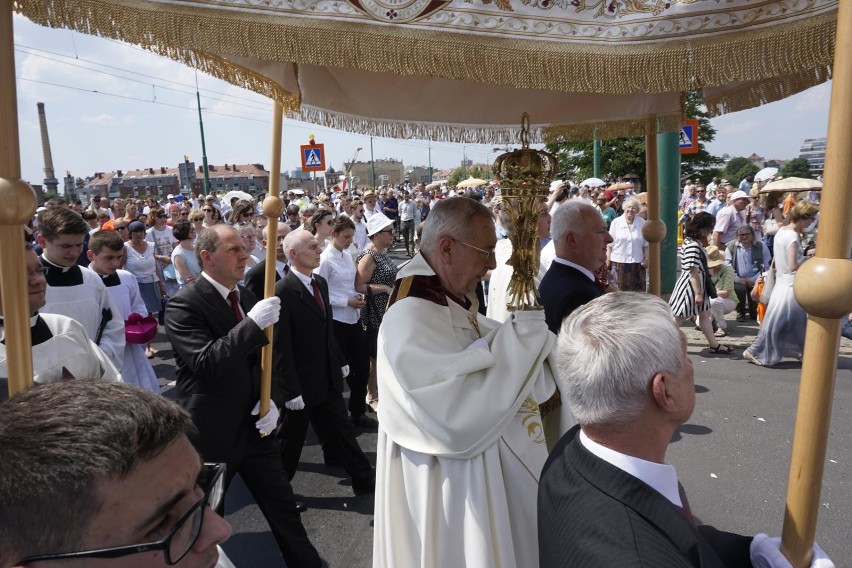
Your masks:
[[[271,436],[252,438],[242,457],[228,463],[226,488],[239,473],[266,517],[287,566],[321,566],[319,553],[308,539],[301,516],[296,510],[293,488],[281,464],[278,443]],[[224,502],[223,499],[223,505],[217,511],[222,516]]]

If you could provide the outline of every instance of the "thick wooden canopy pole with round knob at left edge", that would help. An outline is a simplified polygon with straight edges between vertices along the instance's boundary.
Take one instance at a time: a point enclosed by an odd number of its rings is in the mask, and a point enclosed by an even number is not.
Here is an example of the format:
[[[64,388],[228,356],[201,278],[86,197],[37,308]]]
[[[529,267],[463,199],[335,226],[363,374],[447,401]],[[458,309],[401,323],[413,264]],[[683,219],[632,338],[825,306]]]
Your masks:
[[[36,208],[35,191],[21,181],[13,42],[12,0],[0,0],[0,293],[9,396],[33,382],[23,225]]]

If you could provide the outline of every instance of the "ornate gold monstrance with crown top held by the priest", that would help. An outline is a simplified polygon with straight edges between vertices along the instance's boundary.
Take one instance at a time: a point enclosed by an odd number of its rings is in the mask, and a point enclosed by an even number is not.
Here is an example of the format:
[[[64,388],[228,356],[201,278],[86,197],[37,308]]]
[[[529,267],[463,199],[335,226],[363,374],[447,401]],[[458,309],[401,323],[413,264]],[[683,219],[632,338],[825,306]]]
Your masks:
[[[530,142],[530,117],[521,118],[521,149],[501,154],[494,160],[492,171],[500,180],[500,194],[512,220],[512,266],[509,302],[506,309],[540,310],[535,276],[539,270],[538,218],[542,202],[547,199],[550,180],[556,175],[556,156],[533,150]]]

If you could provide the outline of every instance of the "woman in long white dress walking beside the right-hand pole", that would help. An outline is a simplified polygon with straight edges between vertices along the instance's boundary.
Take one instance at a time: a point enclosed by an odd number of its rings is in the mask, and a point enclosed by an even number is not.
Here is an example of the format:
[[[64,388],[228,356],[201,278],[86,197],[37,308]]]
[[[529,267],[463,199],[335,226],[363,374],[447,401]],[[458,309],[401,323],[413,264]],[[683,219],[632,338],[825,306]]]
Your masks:
[[[819,208],[813,203],[798,202],[790,209],[790,222],[775,234],[775,288],[769,297],[757,339],[743,352],[749,363],[776,365],[784,356],[802,356],[808,314],[796,301],[793,279],[805,260],[802,233],[818,212]]]

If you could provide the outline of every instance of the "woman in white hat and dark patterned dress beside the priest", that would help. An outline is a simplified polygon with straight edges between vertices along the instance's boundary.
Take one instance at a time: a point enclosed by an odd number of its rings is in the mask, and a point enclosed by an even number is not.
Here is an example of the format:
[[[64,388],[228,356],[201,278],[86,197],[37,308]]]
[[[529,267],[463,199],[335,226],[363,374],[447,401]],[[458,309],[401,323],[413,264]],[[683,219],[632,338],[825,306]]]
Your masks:
[[[388,255],[393,244],[393,221],[382,213],[375,213],[367,221],[369,244],[358,255],[358,274],[355,277],[355,290],[367,296],[365,307],[361,310],[361,325],[367,332],[367,349],[370,354],[370,376],[367,382],[367,404],[374,411],[379,406],[378,386],[376,385],[376,354],[379,326],[385,315],[388,298],[393,292],[397,267]],[[355,396],[353,393],[352,396]]]

